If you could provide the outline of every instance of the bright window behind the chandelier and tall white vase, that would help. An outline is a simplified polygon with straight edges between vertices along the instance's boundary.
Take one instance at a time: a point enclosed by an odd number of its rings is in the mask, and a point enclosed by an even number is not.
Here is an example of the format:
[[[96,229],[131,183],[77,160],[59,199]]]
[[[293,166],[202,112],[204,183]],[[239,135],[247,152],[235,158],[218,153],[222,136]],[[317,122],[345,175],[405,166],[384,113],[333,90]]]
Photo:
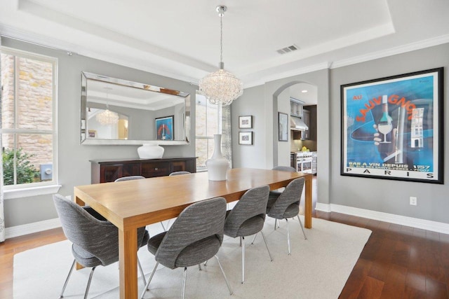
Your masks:
[[[209,104],[206,97],[196,94],[195,141],[196,171],[206,170],[206,160],[213,154],[213,135],[222,132],[222,106]]]

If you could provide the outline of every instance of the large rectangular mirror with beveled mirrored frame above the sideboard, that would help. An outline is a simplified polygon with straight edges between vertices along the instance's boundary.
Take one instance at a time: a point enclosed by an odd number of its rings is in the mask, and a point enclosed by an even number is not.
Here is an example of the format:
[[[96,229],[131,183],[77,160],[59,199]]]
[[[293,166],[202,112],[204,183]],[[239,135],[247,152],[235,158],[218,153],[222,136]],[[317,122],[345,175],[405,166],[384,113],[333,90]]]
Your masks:
[[[81,73],[81,144],[188,144],[190,95]]]

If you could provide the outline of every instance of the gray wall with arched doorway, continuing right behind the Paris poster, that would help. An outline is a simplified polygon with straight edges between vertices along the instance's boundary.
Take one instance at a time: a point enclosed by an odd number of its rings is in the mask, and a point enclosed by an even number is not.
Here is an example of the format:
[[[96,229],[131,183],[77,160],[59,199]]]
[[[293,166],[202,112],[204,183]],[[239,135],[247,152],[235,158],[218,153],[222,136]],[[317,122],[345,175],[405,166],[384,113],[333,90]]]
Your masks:
[[[252,146],[252,149],[234,143],[234,167],[270,168],[276,164],[273,161],[281,155],[276,153],[280,147],[276,144],[276,124],[273,123],[273,120],[276,121],[277,96],[289,85],[301,81],[310,83],[318,87],[319,93],[317,104],[318,202],[449,223],[447,171],[444,174],[443,185],[340,176],[340,85],[445,67],[442,102],[446,109],[444,114],[447,116],[447,109],[449,109],[446,104],[449,94],[448,53],[449,44],[444,44],[348,67],[284,78],[245,90],[243,97],[232,104],[234,137],[236,138],[235,131],[239,130],[236,118],[239,115],[253,115],[256,120],[259,120],[255,123],[254,129],[257,143]],[[262,97],[265,99],[263,103]],[[264,109],[260,107],[262,104]],[[442,154],[446,157],[443,165],[443,169],[446,170],[449,163],[447,158],[449,124],[444,119],[443,122],[445,148]],[[283,154],[288,155],[288,153]],[[417,197],[417,206],[409,204],[410,196]]]

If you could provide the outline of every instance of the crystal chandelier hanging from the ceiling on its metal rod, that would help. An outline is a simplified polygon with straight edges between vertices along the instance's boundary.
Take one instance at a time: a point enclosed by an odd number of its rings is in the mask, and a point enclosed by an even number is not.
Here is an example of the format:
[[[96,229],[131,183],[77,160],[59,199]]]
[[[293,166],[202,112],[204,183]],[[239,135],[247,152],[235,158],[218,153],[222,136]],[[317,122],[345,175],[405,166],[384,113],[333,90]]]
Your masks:
[[[226,6],[217,6],[220,15],[220,69],[199,81],[199,90],[210,104],[230,105],[234,99],[243,94],[243,84],[229,71],[225,71],[223,62],[223,15],[227,11]]]

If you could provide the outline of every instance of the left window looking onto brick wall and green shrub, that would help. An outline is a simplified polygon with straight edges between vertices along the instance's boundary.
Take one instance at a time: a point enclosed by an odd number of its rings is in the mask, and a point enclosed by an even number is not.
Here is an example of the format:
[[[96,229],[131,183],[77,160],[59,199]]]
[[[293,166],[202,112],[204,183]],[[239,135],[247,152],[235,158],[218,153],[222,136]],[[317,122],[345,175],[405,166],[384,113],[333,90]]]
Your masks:
[[[0,52],[4,190],[55,185],[57,59]]]

